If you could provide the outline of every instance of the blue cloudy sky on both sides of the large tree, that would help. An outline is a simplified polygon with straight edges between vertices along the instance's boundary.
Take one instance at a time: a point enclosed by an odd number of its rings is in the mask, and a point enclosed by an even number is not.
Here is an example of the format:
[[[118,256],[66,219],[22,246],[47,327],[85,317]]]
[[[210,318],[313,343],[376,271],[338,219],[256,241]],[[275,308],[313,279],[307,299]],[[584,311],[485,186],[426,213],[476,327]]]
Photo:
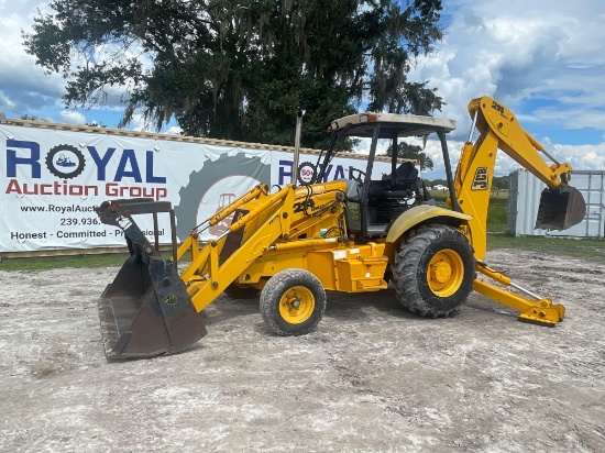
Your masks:
[[[522,126],[547,150],[575,169],[605,169],[605,3],[602,0],[444,0],[444,40],[421,57],[413,80],[430,81],[447,102],[437,117],[457,120],[450,150],[469,135],[466,106],[491,96],[507,106]],[[55,122],[96,121],[116,126],[121,117],[114,92],[107,107],[66,110],[65,81],[45,75],[25,54],[21,31],[29,32],[36,9],[47,1],[0,0],[3,38],[0,41],[0,112],[8,118],[35,115]],[[142,130],[140,117],[129,129]],[[428,179],[441,177],[437,143],[427,153],[436,168]],[[496,173],[518,165],[498,154]]]

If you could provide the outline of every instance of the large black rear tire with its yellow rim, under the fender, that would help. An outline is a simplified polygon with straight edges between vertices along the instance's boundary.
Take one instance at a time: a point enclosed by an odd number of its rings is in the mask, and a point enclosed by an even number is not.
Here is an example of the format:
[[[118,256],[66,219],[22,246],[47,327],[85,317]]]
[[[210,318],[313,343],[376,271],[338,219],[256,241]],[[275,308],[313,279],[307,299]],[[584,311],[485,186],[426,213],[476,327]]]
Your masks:
[[[399,246],[393,281],[399,301],[422,317],[447,317],[463,303],[475,279],[473,246],[457,229],[431,224]]]

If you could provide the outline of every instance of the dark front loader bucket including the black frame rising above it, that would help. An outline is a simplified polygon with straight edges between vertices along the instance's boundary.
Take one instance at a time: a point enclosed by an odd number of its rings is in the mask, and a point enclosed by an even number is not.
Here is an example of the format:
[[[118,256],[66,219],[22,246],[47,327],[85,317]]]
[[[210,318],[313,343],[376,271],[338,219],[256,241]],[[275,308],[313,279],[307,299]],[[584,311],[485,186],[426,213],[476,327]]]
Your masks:
[[[150,357],[179,352],[206,336],[175,261],[162,259],[130,213],[174,212],[148,200],[116,200],[97,213],[123,230],[131,256],[98,300],[108,358]],[[174,231],[174,228],[173,228]],[[157,228],[155,228],[157,240]],[[173,237],[173,242],[174,242]]]

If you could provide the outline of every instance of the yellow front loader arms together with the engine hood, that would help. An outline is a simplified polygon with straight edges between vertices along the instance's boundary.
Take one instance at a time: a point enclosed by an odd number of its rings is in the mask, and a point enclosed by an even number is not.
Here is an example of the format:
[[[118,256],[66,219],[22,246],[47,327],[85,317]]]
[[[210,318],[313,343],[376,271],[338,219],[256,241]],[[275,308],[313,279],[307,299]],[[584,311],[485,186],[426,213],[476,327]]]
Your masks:
[[[243,284],[258,284],[258,275],[250,275],[246,269],[267,252],[333,247],[336,236],[308,233],[321,226],[339,229],[344,216],[344,188],[345,184],[338,181],[302,188],[288,185],[268,194],[268,187],[261,185],[209,219],[213,224],[234,212],[226,234],[200,247],[196,231],[191,232],[178,248],[177,259],[187,252],[191,254],[191,263],[180,278],[196,310],[204,310],[244,270]]]

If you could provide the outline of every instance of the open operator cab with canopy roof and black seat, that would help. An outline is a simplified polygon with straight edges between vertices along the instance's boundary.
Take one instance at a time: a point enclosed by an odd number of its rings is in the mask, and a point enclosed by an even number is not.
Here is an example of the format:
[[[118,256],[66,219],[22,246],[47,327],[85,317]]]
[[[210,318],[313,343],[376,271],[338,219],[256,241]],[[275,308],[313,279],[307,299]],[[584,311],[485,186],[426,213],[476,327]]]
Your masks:
[[[332,157],[353,142],[369,144],[364,169],[352,168],[346,180],[346,223],[349,234],[360,239],[385,237],[391,224],[403,212],[420,205],[435,203],[418,177],[414,161],[397,158],[392,153],[391,173],[377,174],[374,162],[387,148],[398,150],[402,139],[427,137],[436,133],[447,159],[451,187],[451,169],[444,134],[455,129],[455,121],[432,117],[394,113],[358,113],[331,123],[332,140],[319,156],[314,181],[321,181]],[[446,157],[448,156],[448,157]]]

